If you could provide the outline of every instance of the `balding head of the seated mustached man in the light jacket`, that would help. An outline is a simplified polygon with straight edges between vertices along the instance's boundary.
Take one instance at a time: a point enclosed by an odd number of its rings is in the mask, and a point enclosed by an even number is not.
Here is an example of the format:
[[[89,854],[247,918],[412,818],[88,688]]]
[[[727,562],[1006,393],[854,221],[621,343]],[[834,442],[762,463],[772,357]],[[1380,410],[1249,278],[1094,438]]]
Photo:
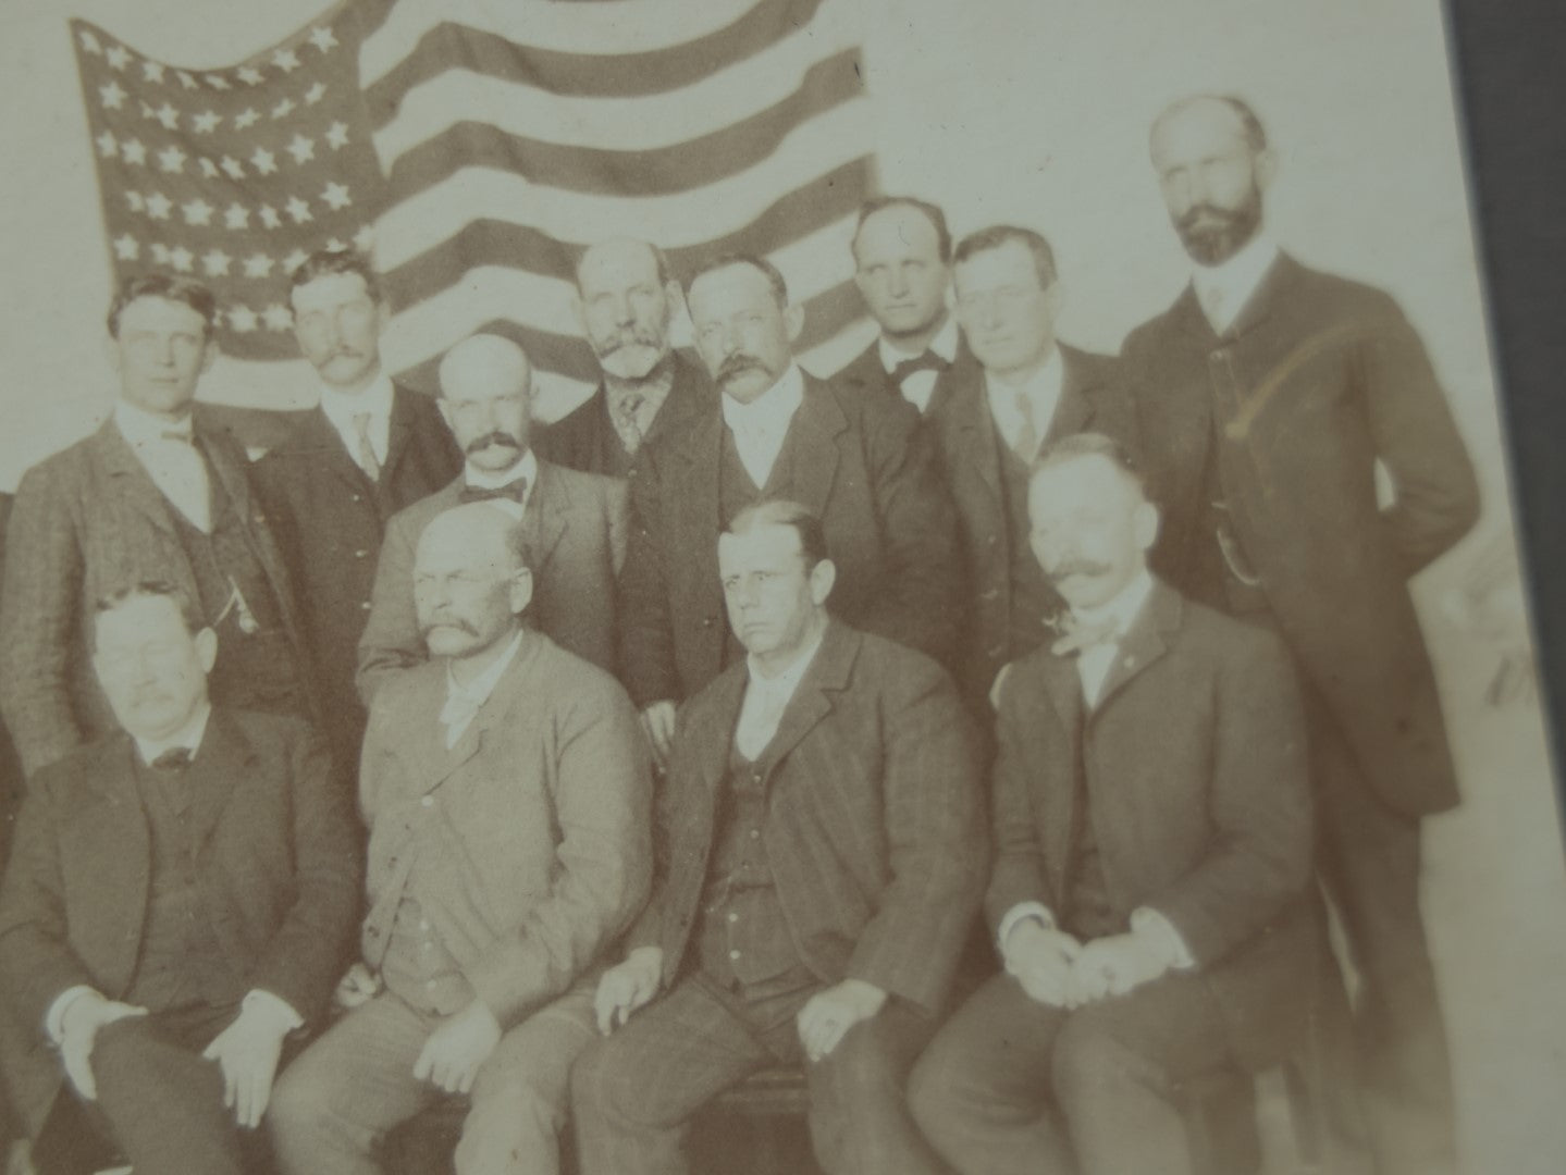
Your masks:
[[[484,662],[517,632],[531,599],[526,543],[506,504],[457,505],[424,527],[413,607],[431,656]]]

